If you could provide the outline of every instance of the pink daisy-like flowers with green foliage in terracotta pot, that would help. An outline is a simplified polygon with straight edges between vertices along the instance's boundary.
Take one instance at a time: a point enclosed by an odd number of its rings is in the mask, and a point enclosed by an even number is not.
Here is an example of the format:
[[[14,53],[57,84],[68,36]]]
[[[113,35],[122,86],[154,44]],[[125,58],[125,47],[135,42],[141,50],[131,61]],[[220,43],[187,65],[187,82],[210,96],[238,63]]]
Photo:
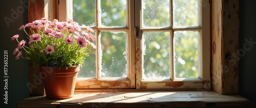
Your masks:
[[[26,28],[30,34],[26,32]],[[39,64],[46,97],[72,97],[79,66],[88,57],[88,51],[96,48],[92,42],[95,41],[94,35],[91,34],[94,31],[87,28],[88,32],[81,32],[79,24],[72,19],[60,22],[57,19],[49,21],[47,18],[22,25],[19,30],[25,31],[29,42],[18,41],[19,35],[11,38],[18,42],[13,51],[16,60],[24,58]]]

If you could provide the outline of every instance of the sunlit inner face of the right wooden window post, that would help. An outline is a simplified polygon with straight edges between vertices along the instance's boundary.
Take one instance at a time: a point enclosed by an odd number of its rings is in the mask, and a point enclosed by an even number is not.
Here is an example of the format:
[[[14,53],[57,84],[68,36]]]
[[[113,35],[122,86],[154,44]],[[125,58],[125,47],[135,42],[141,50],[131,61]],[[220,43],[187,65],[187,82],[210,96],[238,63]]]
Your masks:
[[[211,2],[212,89],[222,93],[222,1]]]

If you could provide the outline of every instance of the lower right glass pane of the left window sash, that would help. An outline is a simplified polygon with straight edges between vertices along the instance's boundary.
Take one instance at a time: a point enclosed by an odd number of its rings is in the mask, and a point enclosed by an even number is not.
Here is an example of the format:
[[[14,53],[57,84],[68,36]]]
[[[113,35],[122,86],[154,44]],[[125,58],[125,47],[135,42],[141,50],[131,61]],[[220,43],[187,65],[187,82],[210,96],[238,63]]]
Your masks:
[[[101,77],[127,77],[125,32],[100,32]]]

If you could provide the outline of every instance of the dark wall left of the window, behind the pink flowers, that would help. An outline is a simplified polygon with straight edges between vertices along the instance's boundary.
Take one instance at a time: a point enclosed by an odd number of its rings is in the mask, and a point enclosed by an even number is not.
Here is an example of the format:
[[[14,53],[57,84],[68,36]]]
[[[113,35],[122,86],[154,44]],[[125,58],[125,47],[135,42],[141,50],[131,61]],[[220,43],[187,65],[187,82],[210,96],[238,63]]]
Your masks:
[[[19,34],[19,40],[26,39],[24,31],[18,30],[19,26],[26,24],[28,20],[27,1],[21,2],[19,3],[19,0],[8,0],[1,1],[0,4],[1,107],[15,107],[18,101],[29,96],[26,86],[28,82],[28,61],[24,59],[15,60],[13,50],[17,47],[17,42],[11,41],[11,37],[16,34]],[[9,22],[5,19],[8,19]],[[4,50],[8,50],[8,105],[4,104]]]

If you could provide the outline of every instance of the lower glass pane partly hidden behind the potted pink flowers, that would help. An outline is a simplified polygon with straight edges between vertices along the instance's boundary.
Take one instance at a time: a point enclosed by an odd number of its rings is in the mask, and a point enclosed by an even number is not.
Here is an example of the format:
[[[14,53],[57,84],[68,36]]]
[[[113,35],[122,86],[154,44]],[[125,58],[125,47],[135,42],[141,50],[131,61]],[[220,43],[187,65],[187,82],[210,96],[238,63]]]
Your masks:
[[[92,34],[95,36],[95,32]],[[96,41],[93,41],[93,43],[96,45]],[[96,49],[92,48],[88,52],[90,53],[89,57],[84,60],[77,77],[96,77]]]

